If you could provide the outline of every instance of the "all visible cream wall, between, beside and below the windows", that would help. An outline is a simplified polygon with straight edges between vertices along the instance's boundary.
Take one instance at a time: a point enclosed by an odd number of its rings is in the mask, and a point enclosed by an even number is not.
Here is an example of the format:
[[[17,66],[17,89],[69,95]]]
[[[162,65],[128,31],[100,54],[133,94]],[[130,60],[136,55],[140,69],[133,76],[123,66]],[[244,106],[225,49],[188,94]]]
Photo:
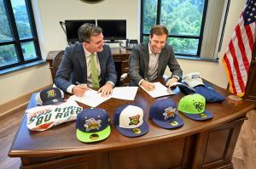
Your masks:
[[[230,14],[226,24],[223,56],[234,27],[238,21],[245,0],[231,0]],[[64,49],[67,46],[66,37],[61,30],[59,21],[75,19],[125,19],[127,20],[127,37],[139,37],[139,0],[103,0],[101,3],[91,4],[79,0],[32,0],[38,37],[43,58],[50,50]],[[226,87],[227,80],[221,63],[191,61],[178,59],[184,74],[199,71],[207,80]],[[49,85],[51,81],[48,65],[38,65],[25,70],[16,71],[1,76],[0,104],[16,99],[32,90]]]

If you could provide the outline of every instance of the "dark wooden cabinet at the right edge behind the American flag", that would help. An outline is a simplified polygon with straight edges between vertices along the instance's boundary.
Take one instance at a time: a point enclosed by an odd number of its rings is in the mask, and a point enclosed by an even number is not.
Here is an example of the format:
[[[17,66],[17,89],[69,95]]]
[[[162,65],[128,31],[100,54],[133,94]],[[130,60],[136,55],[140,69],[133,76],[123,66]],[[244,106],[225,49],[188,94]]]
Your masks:
[[[252,60],[248,73],[246,93],[244,99],[256,102],[256,60]]]

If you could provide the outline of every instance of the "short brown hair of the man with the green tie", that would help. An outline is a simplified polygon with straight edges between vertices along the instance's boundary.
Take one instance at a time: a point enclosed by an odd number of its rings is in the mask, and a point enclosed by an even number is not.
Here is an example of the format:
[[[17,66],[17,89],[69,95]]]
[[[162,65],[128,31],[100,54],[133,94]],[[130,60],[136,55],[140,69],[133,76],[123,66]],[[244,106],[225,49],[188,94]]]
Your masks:
[[[90,37],[93,35],[99,35],[102,33],[102,28],[85,23],[79,27],[79,40],[81,42],[90,42]]]

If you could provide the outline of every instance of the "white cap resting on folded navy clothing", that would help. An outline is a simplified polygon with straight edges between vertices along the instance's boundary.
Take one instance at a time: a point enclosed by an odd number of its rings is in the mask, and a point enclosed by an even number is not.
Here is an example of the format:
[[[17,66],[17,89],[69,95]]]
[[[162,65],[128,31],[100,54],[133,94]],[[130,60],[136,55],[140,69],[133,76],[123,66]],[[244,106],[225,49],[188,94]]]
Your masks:
[[[186,76],[183,76],[183,82],[186,82],[189,87],[196,87],[199,85],[205,85],[201,79],[199,72],[189,73]]]

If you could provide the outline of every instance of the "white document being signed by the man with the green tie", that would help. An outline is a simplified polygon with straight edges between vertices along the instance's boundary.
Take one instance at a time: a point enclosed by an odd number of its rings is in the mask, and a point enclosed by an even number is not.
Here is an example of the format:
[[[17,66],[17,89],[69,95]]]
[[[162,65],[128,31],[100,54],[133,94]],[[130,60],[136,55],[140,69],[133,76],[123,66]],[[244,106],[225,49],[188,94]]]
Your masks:
[[[96,107],[110,98],[110,96],[104,98],[101,96],[101,93],[97,93],[97,91],[90,89],[86,91],[82,97],[73,95],[69,99],[74,99],[82,104],[89,105],[90,107]]]

